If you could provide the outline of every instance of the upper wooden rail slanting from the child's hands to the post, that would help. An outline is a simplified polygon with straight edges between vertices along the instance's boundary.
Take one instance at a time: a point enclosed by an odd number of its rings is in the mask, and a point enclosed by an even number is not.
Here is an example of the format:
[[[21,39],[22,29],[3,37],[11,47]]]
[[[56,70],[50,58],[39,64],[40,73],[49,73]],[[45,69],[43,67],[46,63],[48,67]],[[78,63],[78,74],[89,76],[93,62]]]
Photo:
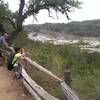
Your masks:
[[[25,57],[25,60],[27,60],[27,62],[29,64],[31,64],[32,66],[36,67],[40,71],[42,71],[42,72],[46,73],[47,75],[49,75],[50,77],[52,77],[55,81],[58,81],[58,82],[62,82],[63,81],[62,79],[60,79],[59,77],[54,75],[52,72],[48,71],[47,69],[45,69],[42,66],[40,66],[39,64],[37,64],[35,61],[32,61],[30,58]]]

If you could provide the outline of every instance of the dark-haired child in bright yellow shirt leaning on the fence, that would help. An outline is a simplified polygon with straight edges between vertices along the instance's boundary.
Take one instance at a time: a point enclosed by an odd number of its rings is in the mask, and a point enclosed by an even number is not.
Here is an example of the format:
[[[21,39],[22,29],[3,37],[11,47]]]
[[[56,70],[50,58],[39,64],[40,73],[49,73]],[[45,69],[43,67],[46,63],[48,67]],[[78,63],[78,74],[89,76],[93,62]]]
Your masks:
[[[15,48],[15,56],[14,56],[14,59],[12,61],[12,64],[13,64],[15,76],[16,76],[17,79],[21,79],[22,78],[22,75],[21,75],[22,66],[19,63],[19,60],[20,60],[20,58],[23,59],[24,56],[25,56],[24,49],[16,47]]]

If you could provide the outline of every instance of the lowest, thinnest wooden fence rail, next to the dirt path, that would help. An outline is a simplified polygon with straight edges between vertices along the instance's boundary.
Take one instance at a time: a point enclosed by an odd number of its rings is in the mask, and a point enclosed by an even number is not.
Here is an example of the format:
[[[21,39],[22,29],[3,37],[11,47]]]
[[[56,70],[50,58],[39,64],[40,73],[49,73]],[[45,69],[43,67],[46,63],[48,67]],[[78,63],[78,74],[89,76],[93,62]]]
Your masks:
[[[39,95],[29,86],[29,84],[25,80],[22,80],[22,83],[27,88],[27,90],[31,93],[31,95],[34,97],[35,100],[41,100]]]

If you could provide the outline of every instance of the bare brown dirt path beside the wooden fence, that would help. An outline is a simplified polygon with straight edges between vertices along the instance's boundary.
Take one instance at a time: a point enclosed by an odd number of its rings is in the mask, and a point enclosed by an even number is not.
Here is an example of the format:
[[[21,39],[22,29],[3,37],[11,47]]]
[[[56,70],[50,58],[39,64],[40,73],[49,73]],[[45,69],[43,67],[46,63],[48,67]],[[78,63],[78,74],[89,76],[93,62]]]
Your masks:
[[[20,80],[0,66],[0,100],[33,100]]]

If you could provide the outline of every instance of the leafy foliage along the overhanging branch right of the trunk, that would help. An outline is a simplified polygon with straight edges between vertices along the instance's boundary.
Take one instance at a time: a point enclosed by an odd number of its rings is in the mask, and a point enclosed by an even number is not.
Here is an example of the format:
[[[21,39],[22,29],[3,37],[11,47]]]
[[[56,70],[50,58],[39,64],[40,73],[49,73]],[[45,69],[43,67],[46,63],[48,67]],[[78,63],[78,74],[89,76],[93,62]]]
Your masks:
[[[48,10],[50,14],[52,9],[56,13],[65,14],[69,19],[68,12],[71,12],[72,8],[79,8],[80,4],[78,0],[30,0],[28,9],[33,15],[36,15],[42,9]]]

